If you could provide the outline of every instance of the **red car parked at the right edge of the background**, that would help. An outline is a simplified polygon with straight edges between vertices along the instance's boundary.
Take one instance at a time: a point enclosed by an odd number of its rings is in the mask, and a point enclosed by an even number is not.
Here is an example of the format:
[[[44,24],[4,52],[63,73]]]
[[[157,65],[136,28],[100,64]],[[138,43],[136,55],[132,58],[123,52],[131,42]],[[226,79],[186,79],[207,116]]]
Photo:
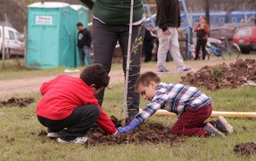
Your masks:
[[[239,28],[234,33],[234,43],[241,48],[243,54],[256,50],[256,26]]]

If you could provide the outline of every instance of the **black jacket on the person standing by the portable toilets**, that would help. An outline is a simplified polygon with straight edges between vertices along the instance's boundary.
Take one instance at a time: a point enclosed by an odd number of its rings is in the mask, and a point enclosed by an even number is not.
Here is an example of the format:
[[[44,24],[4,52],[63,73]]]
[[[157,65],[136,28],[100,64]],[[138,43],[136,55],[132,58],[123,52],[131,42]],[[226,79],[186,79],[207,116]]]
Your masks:
[[[79,30],[77,34],[77,47],[81,48],[84,46],[91,47],[92,35],[91,32],[84,28],[84,30]]]

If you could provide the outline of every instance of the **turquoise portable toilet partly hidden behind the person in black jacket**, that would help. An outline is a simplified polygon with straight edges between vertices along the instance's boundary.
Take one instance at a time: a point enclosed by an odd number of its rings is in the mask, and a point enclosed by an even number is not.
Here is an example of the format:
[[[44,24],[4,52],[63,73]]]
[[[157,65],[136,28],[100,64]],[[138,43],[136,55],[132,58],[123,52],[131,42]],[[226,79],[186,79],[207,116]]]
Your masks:
[[[88,29],[88,8],[84,7],[83,5],[77,5],[77,4],[72,4],[71,7],[75,10],[76,13],[76,19],[75,19],[75,24],[78,22],[83,23],[84,27]],[[75,30],[75,34],[77,35],[78,30]],[[76,46],[77,44],[77,38],[75,38],[75,65],[80,66],[80,59],[79,59],[79,51],[78,47]],[[88,64],[88,61],[86,60],[85,57],[85,64]]]

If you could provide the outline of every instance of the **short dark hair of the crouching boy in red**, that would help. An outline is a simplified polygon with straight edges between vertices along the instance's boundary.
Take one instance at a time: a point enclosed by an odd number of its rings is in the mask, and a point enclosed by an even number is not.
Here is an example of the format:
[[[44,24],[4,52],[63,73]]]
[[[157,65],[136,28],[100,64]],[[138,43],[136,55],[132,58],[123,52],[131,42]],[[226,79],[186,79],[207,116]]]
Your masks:
[[[87,66],[80,73],[80,78],[84,80],[88,86],[95,84],[96,89],[107,87],[110,82],[110,76],[105,71],[102,64],[92,64]]]

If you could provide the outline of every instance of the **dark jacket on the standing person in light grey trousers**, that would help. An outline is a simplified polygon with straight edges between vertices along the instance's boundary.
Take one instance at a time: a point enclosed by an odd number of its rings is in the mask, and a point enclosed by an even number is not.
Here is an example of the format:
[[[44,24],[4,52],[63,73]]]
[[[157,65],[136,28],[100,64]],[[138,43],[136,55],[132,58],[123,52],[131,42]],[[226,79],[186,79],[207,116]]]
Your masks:
[[[181,26],[179,0],[156,0],[156,24],[163,31]]]

